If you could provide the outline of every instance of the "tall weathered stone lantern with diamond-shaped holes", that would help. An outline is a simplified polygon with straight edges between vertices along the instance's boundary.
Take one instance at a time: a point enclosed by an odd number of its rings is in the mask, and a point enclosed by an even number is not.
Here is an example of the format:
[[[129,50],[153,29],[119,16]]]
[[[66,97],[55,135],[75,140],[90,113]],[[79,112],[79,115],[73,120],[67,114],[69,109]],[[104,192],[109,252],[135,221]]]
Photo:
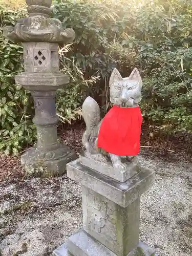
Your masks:
[[[73,150],[57,139],[56,90],[69,83],[59,72],[58,44],[75,38],[73,29],[63,30],[58,19],[51,18],[51,0],[26,0],[29,17],[19,19],[15,27],[5,27],[5,36],[24,47],[25,71],[15,81],[29,90],[34,99],[37,144],[22,156],[27,173],[62,174],[66,164],[76,158]]]

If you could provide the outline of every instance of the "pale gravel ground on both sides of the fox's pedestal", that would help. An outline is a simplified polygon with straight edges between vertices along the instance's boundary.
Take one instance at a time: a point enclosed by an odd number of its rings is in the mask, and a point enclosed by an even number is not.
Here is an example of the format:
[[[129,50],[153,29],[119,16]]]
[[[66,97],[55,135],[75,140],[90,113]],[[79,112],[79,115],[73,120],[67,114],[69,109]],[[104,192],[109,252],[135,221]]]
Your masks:
[[[159,256],[192,255],[191,163],[146,155],[140,162],[156,171],[141,198],[141,240]],[[2,182],[0,216],[2,256],[50,255],[82,225],[81,187],[66,176]]]

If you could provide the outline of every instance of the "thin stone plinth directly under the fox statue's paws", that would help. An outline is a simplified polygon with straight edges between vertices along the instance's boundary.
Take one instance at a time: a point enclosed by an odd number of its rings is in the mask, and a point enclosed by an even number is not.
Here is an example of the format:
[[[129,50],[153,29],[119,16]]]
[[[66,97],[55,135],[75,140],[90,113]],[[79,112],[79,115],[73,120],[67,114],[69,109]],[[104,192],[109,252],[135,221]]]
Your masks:
[[[97,170],[97,172],[109,176],[115,180],[120,182],[124,182],[129,178],[133,177],[140,171],[140,166],[134,166],[133,163],[127,162],[126,158],[123,158],[121,161],[126,167],[125,170],[116,170],[114,169],[112,163],[110,161],[106,163],[102,163],[100,161],[90,159],[88,157],[79,156],[80,163],[84,166],[87,166],[91,169]]]

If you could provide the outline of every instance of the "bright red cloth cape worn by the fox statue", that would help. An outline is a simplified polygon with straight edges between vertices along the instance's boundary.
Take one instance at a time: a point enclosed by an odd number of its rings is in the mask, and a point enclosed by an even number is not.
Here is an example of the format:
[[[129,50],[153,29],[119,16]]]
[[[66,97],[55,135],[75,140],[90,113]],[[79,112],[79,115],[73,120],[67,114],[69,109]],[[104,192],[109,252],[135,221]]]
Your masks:
[[[136,156],[140,151],[141,124],[139,106],[113,106],[102,120],[97,146],[118,156]]]

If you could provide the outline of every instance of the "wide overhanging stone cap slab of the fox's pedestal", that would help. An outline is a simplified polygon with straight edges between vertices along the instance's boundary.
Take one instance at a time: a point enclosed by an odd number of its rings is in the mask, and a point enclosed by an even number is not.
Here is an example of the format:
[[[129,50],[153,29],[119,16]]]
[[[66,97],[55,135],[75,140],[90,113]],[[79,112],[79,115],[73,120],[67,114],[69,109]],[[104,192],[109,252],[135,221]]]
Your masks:
[[[140,197],[152,186],[155,178],[151,170],[141,168],[141,172],[122,183],[83,166],[79,160],[67,164],[67,175],[122,207]]]

